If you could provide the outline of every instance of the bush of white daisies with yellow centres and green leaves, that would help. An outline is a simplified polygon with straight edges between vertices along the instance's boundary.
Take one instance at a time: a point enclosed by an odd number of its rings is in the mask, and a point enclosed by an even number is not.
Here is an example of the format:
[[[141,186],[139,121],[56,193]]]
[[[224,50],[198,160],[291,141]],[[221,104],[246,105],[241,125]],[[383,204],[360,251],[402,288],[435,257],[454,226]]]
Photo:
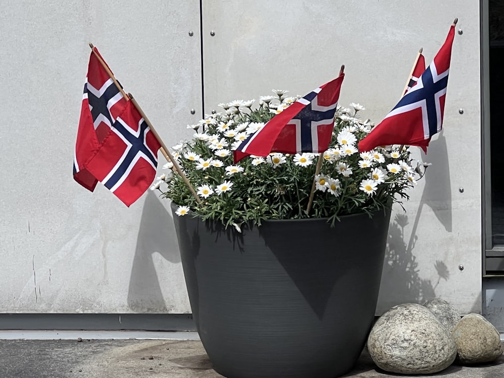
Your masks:
[[[196,131],[194,138],[174,146],[172,155],[202,203],[172,163],[165,164],[167,173],[151,187],[178,205],[177,215],[198,214],[239,231],[242,222],[260,225],[266,219],[327,217],[334,224],[342,215],[370,214],[408,199],[408,188],[416,184],[426,165],[412,161],[407,146],[359,153],[358,142],[374,125],[360,118],[364,107],[356,103],[337,108],[333,138],[317,176],[319,154],[272,153],[234,164],[232,150],[298,99],[286,96],[287,91],[273,92],[275,96],[259,97],[258,106],[256,100],[219,104],[222,112],[187,126]]]

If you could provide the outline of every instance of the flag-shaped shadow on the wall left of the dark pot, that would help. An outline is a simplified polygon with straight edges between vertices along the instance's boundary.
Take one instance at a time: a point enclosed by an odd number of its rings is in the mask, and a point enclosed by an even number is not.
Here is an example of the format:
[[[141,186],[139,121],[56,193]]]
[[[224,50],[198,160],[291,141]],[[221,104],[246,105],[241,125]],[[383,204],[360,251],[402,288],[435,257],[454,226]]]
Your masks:
[[[154,266],[154,254],[160,254],[171,263],[180,263],[177,238],[174,235],[175,226],[168,210],[155,193],[148,191],[128,290],[128,305],[133,311],[167,311]]]

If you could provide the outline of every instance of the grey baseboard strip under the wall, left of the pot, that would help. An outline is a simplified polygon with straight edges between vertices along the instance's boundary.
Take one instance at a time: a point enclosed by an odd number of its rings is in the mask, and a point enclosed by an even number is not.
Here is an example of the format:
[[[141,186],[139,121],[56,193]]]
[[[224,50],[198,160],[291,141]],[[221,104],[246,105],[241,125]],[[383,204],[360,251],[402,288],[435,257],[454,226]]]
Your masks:
[[[196,331],[192,314],[0,313],[0,330]]]

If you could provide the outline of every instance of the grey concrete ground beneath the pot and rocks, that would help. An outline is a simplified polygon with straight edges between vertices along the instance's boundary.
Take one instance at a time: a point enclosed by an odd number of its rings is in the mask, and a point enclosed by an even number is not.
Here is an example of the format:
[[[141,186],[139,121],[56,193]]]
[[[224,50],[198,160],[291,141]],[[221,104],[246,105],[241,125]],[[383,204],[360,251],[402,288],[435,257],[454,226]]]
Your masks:
[[[388,376],[397,375],[379,370],[365,350],[355,368],[344,375],[356,378]],[[504,357],[491,364],[452,365],[437,374],[416,375],[424,376],[501,378]],[[199,340],[3,339],[0,340],[0,378],[11,377],[218,378],[222,375],[212,369]]]

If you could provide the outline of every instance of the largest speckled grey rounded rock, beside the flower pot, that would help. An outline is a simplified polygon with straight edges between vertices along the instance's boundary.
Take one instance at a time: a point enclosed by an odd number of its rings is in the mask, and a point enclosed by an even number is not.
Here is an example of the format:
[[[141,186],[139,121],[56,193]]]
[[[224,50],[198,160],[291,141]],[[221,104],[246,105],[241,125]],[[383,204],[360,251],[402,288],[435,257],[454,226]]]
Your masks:
[[[424,306],[392,307],[376,321],[367,340],[373,362],[401,374],[430,374],[450,366],[457,348],[450,332]]]

